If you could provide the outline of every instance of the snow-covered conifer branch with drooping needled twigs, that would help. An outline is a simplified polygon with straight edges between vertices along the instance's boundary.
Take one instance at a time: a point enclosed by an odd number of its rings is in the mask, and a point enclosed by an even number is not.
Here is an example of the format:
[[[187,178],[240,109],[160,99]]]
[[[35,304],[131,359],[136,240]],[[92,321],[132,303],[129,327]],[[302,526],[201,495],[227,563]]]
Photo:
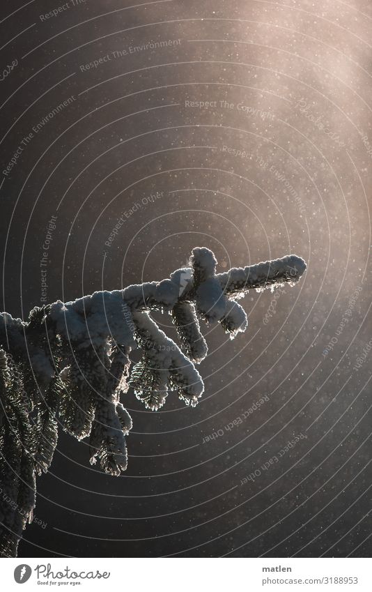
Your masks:
[[[89,439],[91,463],[120,475],[132,427],[121,402],[132,387],[145,407],[160,409],[169,393],[194,407],[203,394],[195,364],[208,347],[199,321],[219,323],[231,339],[247,328],[236,302],[249,289],[294,285],[306,270],[288,255],[216,273],[207,248],[169,279],[34,308],[27,321],[0,314],[0,554],[15,556],[35,506],[36,475],[52,462],[58,427]],[[171,315],[179,346],[151,318]],[[129,354],[142,357],[130,368]]]

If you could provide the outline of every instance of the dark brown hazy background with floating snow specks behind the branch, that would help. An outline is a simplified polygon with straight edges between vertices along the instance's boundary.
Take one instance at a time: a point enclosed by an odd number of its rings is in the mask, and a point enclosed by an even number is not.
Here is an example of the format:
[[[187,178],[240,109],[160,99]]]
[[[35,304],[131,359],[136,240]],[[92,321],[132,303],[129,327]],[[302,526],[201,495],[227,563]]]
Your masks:
[[[372,352],[353,367],[371,339],[370,3],[134,4],[70,0],[42,21],[63,3],[1,3],[1,70],[18,62],[0,82],[1,170],[33,126],[76,98],[3,179],[3,310],[25,318],[40,305],[52,215],[48,301],[161,280],[196,245],[212,248],[222,271],[288,252],[309,269],[267,324],[270,291],[242,301],[249,330],[235,341],[206,330],[196,409],[169,396],[150,413],[127,395],[134,428],[121,478],[91,467],[86,445],[61,433],[38,480],[46,526],[26,529],[20,556],[369,556]],[[156,192],[107,247],[123,212]],[[358,286],[347,326],[323,353]],[[224,430],[263,395],[261,409]],[[240,485],[300,433],[280,462]]]

